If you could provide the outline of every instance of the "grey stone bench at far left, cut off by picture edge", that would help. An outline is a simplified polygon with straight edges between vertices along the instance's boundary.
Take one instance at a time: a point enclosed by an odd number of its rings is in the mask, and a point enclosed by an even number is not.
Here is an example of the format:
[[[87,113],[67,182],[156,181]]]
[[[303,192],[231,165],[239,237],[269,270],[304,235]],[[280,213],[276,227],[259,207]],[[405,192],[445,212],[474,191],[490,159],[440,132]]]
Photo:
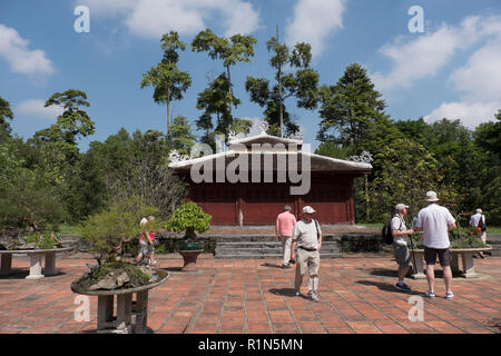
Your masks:
[[[0,276],[10,275],[12,267],[12,255],[23,254],[30,257],[30,274],[26,279],[41,279],[45,276],[55,276],[58,274],[56,269],[56,254],[70,251],[72,247],[50,248],[50,249],[4,249],[0,250],[2,257]],[[45,268],[42,275],[41,260],[45,257]]]

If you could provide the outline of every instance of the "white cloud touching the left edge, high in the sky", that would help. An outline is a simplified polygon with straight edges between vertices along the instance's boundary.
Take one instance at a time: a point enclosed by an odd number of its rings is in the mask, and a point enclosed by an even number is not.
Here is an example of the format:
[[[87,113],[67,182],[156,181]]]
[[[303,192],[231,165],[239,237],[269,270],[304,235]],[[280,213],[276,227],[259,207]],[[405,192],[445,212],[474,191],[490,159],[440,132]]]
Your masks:
[[[52,75],[52,62],[46,52],[30,50],[29,41],[21,38],[18,31],[0,23],[0,57],[9,62],[13,72],[22,75]]]

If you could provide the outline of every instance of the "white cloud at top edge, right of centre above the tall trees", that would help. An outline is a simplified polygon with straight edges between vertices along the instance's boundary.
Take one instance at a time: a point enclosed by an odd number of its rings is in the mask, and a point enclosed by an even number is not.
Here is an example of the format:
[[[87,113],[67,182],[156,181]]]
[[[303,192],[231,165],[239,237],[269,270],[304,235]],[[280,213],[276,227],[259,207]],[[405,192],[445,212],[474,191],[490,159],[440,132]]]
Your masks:
[[[343,28],[344,4],[345,0],[298,0],[285,41],[289,46],[307,42],[313,56],[322,53],[327,37]]]

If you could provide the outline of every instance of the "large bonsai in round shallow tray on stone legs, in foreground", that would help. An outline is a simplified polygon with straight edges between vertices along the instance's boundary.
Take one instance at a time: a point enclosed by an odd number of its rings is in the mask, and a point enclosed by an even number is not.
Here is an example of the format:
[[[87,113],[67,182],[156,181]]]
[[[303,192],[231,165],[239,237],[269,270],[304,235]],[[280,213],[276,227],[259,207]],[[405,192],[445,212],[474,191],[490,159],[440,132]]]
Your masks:
[[[78,227],[81,238],[90,243],[97,265],[87,265],[90,270],[71,284],[71,290],[98,296],[98,333],[146,332],[148,290],[165,283],[168,273],[125,260],[122,247],[141,234],[141,217],[158,212],[132,197],[89,216]],[[161,221],[151,224],[159,226]],[[134,293],[137,294],[136,301],[132,301]],[[112,316],[115,295],[116,317]],[[131,314],[136,314],[134,325]]]

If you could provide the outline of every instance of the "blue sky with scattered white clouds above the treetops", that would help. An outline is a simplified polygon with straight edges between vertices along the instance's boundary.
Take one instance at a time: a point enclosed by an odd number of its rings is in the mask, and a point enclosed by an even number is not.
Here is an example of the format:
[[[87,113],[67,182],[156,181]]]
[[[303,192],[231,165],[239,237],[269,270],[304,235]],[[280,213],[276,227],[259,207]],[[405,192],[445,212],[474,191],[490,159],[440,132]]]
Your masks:
[[[89,33],[73,30],[80,4],[90,11]],[[413,6],[423,9],[422,33],[407,27]],[[210,28],[257,38],[252,63],[232,68],[243,101],[234,115],[257,120],[263,110],[249,101],[245,78],[273,78],[266,41],[276,26],[287,43],[312,43],[321,83],[334,85],[347,65],[363,65],[395,120],[448,117],[474,128],[501,109],[499,0],[0,0],[0,96],[24,138],[56,122],[60,112],[42,103],[67,89],[86,91],[91,105],[96,134],[80,141],[82,150],[121,127],[165,131],[166,109],[154,103],[153,89],[140,89],[141,76],[161,58],[161,33],[177,30],[189,44]],[[202,113],[197,93],[223,65],[189,47],[180,56],[193,86],[171,115],[194,122]],[[315,148],[318,112],[286,105]]]

